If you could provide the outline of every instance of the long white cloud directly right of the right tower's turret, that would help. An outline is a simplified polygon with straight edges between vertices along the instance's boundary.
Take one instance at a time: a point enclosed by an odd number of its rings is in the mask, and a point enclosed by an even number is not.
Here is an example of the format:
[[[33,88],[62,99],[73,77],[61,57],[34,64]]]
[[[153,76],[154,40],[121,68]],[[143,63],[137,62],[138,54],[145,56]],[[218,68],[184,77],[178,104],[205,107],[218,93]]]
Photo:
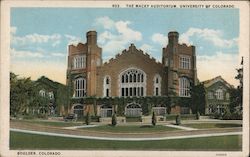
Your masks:
[[[206,40],[211,42],[214,46],[220,48],[231,48],[238,44],[238,38],[224,39],[221,30],[214,29],[200,29],[200,28],[189,28],[187,32],[180,35],[180,43],[193,44],[191,37]]]

